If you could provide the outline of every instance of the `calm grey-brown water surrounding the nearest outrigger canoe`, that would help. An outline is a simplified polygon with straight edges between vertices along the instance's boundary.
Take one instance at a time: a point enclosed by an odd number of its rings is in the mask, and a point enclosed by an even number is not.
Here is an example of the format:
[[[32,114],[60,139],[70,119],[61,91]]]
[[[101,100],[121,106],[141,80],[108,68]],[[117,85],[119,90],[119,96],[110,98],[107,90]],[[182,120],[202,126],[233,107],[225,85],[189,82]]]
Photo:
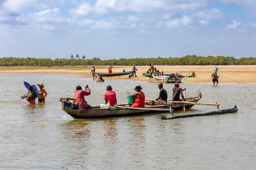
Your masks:
[[[154,81],[75,78],[73,74],[0,74],[0,169],[256,169],[256,89],[253,84],[188,84],[186,96],[201,88],[201,102],[238,106],[238,113],[161,120],[159,114],[75,120],[61,110],[60,97],[72,97],[86,84],[88,103],[104,103],[112,85],[118,103],[141,85],[146,98],[159,94]],[[43,82],[45,104],[28,106],[23,81]],[[164,84],[169,92],[173,84]],[[194,106],[186,113],[215,111]],[[181,114],[176,112],[175,114]],[[168,113],[164,114],[169,116]]]

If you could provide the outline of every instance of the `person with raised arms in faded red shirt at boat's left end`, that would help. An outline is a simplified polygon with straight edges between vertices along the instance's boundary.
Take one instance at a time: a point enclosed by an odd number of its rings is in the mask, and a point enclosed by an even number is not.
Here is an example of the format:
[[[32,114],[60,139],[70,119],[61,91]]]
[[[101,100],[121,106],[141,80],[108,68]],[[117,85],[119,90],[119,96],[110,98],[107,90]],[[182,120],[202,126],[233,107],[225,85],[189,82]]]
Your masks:
[[[73,104],[77,104],[80,106],[81,109],[92,109],[92,106],[87,104],[87,101],[85,101],[85,96],[90,95],[90,88],[88,85],[85,86],[85,91],[82,90],[81,86],[76,86],[75,92],[73,94],[73,98],[75,101],[73,101]]]

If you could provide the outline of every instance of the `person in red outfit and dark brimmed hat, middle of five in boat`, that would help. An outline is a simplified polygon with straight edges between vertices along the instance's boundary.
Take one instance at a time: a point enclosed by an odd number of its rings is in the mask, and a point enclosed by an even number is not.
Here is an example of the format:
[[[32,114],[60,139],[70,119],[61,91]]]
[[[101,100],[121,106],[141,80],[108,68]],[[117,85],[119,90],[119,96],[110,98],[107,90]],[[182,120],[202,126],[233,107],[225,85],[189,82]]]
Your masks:
[[[134,88],[135,91],[137,91],[134,94],[131,94],[132,97],[134,97],[134,103],[130,106],[132,108],[144,108],[145,106],[145,95],[142,92],[141,86],[136,86]]]

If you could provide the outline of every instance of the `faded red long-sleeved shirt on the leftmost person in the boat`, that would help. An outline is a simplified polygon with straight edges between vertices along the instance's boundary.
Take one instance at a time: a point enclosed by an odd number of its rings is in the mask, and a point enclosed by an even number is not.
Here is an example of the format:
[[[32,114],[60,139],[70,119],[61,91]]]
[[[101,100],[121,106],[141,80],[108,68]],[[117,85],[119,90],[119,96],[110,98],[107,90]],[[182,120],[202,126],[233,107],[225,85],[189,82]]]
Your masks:
[[[74,104],[80,104],[80,108],[87,108],[87,101],[85,101],[84,96],[90,95],[90,89],[87,88],[86,91],[83,90],[76,90],[73,94],[73,98],[76,100],[73,101]]]

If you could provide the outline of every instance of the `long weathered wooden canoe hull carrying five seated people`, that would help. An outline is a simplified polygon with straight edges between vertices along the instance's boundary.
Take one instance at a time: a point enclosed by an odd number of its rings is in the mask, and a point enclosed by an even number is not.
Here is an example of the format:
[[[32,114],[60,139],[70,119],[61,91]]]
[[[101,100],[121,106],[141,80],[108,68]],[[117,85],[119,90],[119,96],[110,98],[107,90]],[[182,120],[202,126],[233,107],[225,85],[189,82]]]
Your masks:
[[[195,98],[186,98],[187,103],[172,103],[169,101],[167,105],[149,106],[149,102],[145,102],[144,108],[131,108],[126,104],[118,105],[115,110],[100,109],[99,106],[94,106],[92,109],[80,109],[79,106],[70,102],[73,98],[60,98],[62,103],[62,109],[73,118],[106,118],[106,117],[118,117],[124,115],[139,115],[144,113],[161,113],[170,112],[170,110],[182,110],[183,106],[186,109],[194,106],[201,99],[201,93]],[[189,103],[191,102],[191,103]]]

